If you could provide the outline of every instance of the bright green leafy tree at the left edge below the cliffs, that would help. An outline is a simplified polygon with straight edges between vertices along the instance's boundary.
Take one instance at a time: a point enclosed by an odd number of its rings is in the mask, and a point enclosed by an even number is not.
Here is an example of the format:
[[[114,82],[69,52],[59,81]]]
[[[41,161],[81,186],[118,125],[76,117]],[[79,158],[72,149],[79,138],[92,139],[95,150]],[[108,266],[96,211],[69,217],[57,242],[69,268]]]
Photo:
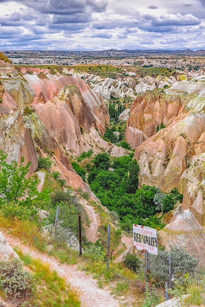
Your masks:
[[[30,162],[24,166],[24,158],[18,165],[16,161],[6,162],[7,154],[0,151],[0,206],[7,215],[19,216],[18,212],[26,213],[32,208],[32,199],[38,195],[38,179],[28,177]],[[19,207],[20,206],[20,207]],[[4,209],[4,210],[3,210]],[[16,212],[15,212],[16,211]]]

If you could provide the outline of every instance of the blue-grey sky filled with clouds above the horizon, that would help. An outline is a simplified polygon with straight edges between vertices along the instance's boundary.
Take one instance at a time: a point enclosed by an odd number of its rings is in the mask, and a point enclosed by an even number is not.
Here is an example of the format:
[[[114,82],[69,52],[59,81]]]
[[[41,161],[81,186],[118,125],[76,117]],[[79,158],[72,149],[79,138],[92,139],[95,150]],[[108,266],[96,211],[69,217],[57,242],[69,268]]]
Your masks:
[[[0,50],[205,49],[205,0],[0,0]]]

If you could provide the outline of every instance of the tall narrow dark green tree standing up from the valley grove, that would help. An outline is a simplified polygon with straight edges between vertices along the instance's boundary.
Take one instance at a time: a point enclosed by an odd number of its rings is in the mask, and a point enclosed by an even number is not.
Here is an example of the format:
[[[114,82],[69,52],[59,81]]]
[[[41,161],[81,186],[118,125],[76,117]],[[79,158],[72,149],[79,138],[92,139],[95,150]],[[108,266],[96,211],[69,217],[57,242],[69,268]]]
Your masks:
[[[136,159],[129,163],[128,175],[125,177],[125,190],[127,193],[135,193],[139,184],[139,165]]]

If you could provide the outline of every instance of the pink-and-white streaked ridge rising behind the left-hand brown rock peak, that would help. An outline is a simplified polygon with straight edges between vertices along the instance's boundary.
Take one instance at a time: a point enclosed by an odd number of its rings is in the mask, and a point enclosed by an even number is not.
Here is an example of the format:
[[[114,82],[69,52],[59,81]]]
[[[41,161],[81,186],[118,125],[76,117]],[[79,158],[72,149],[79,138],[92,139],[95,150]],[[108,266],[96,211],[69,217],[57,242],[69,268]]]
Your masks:
[[[72,96],[73,105],[70,105],[70,107],[72,109],[75,106],[75,115],[77,115],[78,120],[81,121],[81,117],[84,119],[82,125],[86,125],[85,121],[90,120],[102,134],[104,133],[106,126],[109,125],[107,107],[103,98],[95,93],[84,80],[77,76],[56,75],[53,77],[51,74],[46,75],[42,72],[39,72],[38,75],[28,75],[25,70],[24,72],[24,77],[35,93],[33,104],[49,102],[57,97],[59,92],[61,100],[66,95]],[[62,89],[64,92],[62,92]],[[75,99],[77,99],[76,102],[74,102]],[[80,103],[80,105],[77,106],[77,103]]]

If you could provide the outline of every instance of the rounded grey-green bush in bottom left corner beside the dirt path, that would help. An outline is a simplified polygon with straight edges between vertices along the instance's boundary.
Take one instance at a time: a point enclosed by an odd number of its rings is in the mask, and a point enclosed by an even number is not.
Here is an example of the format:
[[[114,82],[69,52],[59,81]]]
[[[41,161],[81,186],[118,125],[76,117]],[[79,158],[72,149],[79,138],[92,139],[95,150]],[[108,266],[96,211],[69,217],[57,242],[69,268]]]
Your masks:
[[[34,278],[31,273],[23,271],[19,259],[0,262],[0,289],[6,297],[25,298],[32,294]]]

